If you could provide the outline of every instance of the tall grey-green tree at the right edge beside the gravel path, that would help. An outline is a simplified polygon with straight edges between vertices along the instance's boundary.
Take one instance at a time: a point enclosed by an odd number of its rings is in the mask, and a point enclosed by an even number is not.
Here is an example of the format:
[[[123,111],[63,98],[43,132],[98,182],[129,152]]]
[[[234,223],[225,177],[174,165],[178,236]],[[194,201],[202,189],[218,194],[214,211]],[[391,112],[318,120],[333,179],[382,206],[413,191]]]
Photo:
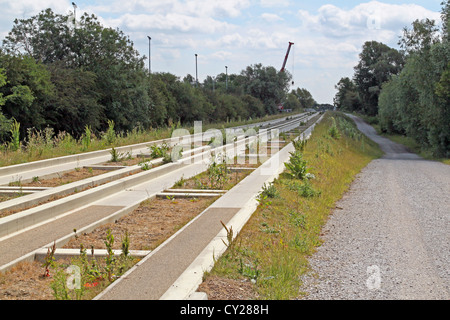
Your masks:
[[[443,34],[435,22],[414,21],[400,45],[406,56],[401,73],[383,86],[379,100],[382,130],[406,134],[435,155],[450,155],[450,45],[446,32],[448,2],[443,8]]]

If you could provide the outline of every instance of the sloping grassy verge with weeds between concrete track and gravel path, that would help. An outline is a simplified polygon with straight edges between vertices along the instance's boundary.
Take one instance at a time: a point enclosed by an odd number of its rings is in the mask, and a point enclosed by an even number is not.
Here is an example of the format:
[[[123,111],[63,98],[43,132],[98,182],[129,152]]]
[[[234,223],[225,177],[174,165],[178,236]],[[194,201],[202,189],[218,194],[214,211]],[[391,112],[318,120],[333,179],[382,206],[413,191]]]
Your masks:
[[[208,299],[301,297],[301,275],[321,244],[321,229],[335,202],[355,175],[382,155],[352,120],[332,112],[307,143],[295,147],[286,170],[264,187],[253,216],[205,273],[199,291]]]

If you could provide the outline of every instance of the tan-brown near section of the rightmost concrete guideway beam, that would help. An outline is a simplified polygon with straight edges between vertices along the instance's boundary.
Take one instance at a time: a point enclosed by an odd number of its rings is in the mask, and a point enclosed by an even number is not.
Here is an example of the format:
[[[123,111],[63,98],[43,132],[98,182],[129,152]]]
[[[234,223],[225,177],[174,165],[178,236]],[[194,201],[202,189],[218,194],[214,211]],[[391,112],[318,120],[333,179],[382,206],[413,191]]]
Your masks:
[[[95,299],[159,299],[174,279],[202,252],[204,243],[220,231],[222,226],[219,221],[228,222],[237,211],[236,208],[206,209]]]

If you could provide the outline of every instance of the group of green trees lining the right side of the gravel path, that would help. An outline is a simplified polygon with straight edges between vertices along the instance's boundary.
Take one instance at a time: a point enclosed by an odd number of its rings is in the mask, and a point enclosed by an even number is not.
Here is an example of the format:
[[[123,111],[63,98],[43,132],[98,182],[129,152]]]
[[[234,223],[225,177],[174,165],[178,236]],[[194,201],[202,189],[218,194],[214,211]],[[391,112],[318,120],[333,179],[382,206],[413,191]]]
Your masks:
[[[403,29],[400,50],[366,42],[354,76],[336,85],[335,106],[376,117],[383,132],[413,138],[435,156],[450,157],[449,1],[442,28],[430,19]]]

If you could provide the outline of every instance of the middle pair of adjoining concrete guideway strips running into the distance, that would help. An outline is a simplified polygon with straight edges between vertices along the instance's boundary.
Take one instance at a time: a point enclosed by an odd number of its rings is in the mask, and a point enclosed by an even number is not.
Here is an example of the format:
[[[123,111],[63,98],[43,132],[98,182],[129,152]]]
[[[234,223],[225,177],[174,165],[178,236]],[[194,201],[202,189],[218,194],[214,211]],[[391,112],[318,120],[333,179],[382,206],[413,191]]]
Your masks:
[[[312,116],[297,118],[277,125],[276,128],[280,131],[290,130],[298,126],[299,121],[307,118]],[[246,139],[253,138],[255,137]],[[244,140],[235,144],[242,141]],[[223,150],[228,153],[235,148],[230,148],[230,145],[212,150],[210,147],[199,148],[198,154],[177,162],[1,218],[0,271],[7,270],[20,261],[34,259],[36,251],[53,244],[55,239],[58,239],[55,241],[57,246],[64,245],[74,236],[74,229],[77,232],[89,232],[131,212],[142,201],[171,187],[181,177],[189,178],[206,170],[206,163],[199,160],[210,156],[211,152],[217,154]]]

